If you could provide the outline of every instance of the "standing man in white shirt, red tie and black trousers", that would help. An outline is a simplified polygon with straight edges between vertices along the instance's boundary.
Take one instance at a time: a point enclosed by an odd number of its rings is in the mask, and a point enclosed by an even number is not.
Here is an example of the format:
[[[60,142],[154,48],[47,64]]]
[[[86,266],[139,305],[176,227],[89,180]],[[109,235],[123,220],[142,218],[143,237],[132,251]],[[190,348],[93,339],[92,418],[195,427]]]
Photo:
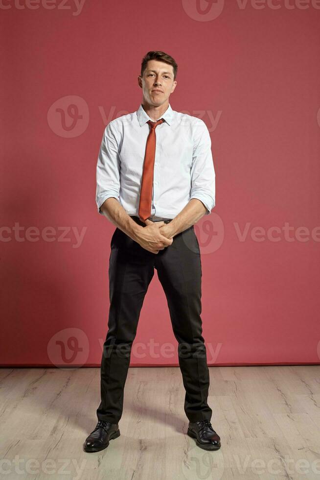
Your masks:
[[[98,212],[116,225],[109,263],[110,310],[101,361],[98,423],[85,440],[98,452],[120,435],[124,385],[144,296],[157,269],[178,340],[188,435],[220,448],[207,404],[209,371],[201,319],[201,258],[194,223],[215,206],[206,124],[172,110],[177,63],[162,51],[142,60],[142,103],[105,128],[96,168]]]

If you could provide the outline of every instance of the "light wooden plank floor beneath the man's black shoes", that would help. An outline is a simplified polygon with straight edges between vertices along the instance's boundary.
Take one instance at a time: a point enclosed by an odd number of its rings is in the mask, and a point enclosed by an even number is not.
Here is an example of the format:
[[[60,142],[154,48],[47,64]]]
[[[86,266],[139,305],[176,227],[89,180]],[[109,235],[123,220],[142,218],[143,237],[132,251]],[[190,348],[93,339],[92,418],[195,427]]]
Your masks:
[[[135,367],[120,437],[88,454],[99,368],[0,369],[0,478],[320,480],[319,365],[209,370],[220,450],[186,435],[179,367]]]

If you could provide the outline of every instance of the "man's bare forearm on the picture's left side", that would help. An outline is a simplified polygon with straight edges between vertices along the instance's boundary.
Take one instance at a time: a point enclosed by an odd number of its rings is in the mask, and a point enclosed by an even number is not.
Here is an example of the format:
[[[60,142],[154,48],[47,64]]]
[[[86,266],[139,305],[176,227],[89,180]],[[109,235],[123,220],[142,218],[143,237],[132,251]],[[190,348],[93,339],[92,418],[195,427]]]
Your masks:
[[[109,197],[100,207],[101,212],[117,228],[122,230],[132,240],[137,241],[138,233],[143,227],[133,220],[114,197]]]

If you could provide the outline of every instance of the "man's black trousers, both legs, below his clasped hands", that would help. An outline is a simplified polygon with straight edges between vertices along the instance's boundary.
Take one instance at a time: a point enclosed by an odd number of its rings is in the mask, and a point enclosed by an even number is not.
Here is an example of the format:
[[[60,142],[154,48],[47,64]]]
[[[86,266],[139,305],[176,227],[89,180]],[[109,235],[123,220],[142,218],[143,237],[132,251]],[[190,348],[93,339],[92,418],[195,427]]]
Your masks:
[[[132,217],[145,226],[138,217]],[[118,423],[132,343],[143,299],[154,268],[166,295],[185,389],[184,411],[190,422],[211,419],[207,404],[209,370],[201,319],[201,257],[194,227],[173,237],[155,254],[116,228],[109,260],[110,310],[101,361],[98,420]],[[156,312],[155,312],[156,314]]]

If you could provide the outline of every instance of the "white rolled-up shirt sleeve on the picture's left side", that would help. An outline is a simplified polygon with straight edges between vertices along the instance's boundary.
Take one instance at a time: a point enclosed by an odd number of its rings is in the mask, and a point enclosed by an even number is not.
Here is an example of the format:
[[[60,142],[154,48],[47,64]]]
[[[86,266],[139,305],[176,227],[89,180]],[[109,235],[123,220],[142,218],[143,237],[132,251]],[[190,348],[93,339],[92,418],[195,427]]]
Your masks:
[[[101,215],[100,207],[107,198],[114,197],[120,202],[119,140],[119,133],[110,122],[103,133],[96,167],[95,201]]]

